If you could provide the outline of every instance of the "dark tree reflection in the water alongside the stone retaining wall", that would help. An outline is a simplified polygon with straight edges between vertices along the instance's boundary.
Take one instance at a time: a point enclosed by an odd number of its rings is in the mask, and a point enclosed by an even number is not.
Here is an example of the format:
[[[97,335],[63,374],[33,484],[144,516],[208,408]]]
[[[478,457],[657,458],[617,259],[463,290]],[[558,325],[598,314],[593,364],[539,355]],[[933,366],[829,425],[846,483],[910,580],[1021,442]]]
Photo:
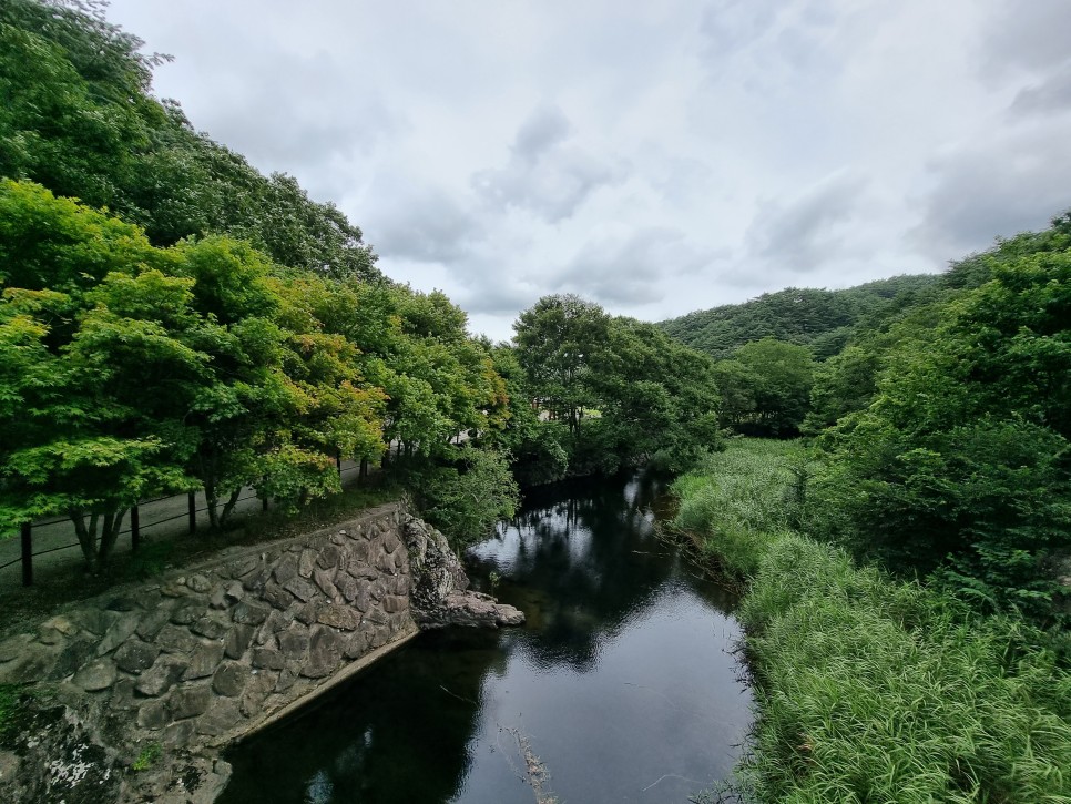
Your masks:
[[[312,712],[238,746],[218,802],[451,801],[471,761],[482,680],[504,672],[498,638],[421,635]]]

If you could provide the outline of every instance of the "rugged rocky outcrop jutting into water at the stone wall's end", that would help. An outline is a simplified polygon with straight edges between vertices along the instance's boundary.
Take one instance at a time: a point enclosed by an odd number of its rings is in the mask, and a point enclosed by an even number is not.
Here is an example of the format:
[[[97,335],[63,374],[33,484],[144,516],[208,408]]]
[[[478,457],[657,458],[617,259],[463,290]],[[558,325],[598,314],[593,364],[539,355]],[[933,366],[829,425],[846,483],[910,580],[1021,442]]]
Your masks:
[[[519,609],[468,591],[468,576],[442,533],[414,517],[406,518],[402,533],[414,571],[412,618],[420,628],[523,624]]]

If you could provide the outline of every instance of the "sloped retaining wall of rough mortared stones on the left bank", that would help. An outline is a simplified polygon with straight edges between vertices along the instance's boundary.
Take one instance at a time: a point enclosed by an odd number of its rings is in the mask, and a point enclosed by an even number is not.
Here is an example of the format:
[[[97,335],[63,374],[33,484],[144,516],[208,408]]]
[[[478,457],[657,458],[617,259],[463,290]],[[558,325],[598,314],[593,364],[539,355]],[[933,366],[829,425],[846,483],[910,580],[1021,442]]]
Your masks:
[[[224,553],[4,641],[0,683],[51,683],[0,751],[0,798],[211,801],[230,773],[212,749],[416,632],[409,519],[390,505]],[[34,751],[60,732],[52,755]],[[129,772],[139,764],[155,772]]]

